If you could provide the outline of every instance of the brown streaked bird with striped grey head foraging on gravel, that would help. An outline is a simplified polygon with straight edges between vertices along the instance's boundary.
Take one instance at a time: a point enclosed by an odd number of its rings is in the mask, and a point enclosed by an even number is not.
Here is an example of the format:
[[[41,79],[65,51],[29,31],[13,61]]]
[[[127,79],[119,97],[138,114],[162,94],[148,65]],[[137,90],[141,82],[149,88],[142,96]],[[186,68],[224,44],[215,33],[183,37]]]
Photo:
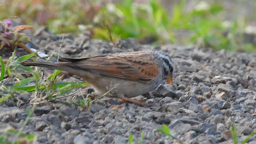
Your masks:
[[[24,66],[40,66],[64,70],[83,78],[95,94],[120,98],[143,105],[133,97],[155,90],[164,80],[172,84],[174,63],[170,56],[158,51],[121,52],[77,58],[59,58],[58,62],[26,60]]]

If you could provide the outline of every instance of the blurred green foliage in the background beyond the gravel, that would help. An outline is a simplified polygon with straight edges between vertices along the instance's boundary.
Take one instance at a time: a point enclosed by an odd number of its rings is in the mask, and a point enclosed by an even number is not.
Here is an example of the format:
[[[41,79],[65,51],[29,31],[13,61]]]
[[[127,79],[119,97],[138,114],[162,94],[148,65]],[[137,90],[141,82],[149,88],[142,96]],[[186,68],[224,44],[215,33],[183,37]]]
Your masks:
[[[228,50],[256,50],[244,42],[246,21],[225,21],[223,6],[202,1],[185,10],[186,0],[174,4],[172,16],[157,0],[4,0],[0,20],[18,16],[24,24],[45,25],[55,33],[90,30],[93,38],[156,39],[158,44],[196,44]],[[110,35],[112,38],[110,38]]]

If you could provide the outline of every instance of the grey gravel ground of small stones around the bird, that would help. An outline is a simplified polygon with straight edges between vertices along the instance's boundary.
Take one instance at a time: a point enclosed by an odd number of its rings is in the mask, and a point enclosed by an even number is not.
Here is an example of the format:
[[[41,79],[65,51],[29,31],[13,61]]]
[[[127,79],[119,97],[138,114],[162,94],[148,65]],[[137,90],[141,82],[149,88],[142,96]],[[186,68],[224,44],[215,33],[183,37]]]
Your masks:
[[[36,48],[59,51],[62,36],[42,30],[34,36]],[[38,144],[126,144],[129,134],[142,144],[177,142],[157,129],[166,124],[171,134],[188,144],[232,143],[230,127],[237,126],[241,142],[256,128],[256,53],[214,51],[193,46],[140,45],[134,39],[121,39],[116,46],[92,40],[87,34],[74,38],[66,35],[60,56],[86,56],[126,51],[157,50],[169,54],[175,62],[173,84],[138,96],[150,106],[120,103],[114,98],[98,100],[88,110],[74,105],[46,102],[36,106],[23,132],[37,134]],[[23,49],[17,55],[24,55]],[[8,57],[6,52],[1,55]],[[49,71],[42,68],[42,70]],[[51,71],[52,72],[52,71]],[[69,76],[64,82],[81,81]],[[6,78],[2,84],[14,84]],[[84,93],[91,92],[83,88]],[[0,92],[1,93],[1,92]],[[77,96],[84,96],[76,94]],[[17,95],[28,102],[33,93]],[[31,104],[20,105],[16,99],[0,104],[0,128],[19,130]],[[8,114],[12,111],[12,114]],[[13,113],[15,112],[15,113]],[[256,135],[249,139],[256,144]]]

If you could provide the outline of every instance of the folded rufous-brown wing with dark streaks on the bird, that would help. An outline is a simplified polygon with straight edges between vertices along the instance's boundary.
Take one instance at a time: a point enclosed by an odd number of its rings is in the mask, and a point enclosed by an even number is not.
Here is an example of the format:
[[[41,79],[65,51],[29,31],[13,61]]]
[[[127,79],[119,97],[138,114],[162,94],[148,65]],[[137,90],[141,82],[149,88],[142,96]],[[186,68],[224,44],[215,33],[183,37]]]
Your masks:
[[[132,58],[131,58],[132,56]],[[158,65],[142,58],[141,55],[90,56],[82,58],[64,58],[77,66],[89,69],[105,76],[132,81],[150,82],[158,75]]]

